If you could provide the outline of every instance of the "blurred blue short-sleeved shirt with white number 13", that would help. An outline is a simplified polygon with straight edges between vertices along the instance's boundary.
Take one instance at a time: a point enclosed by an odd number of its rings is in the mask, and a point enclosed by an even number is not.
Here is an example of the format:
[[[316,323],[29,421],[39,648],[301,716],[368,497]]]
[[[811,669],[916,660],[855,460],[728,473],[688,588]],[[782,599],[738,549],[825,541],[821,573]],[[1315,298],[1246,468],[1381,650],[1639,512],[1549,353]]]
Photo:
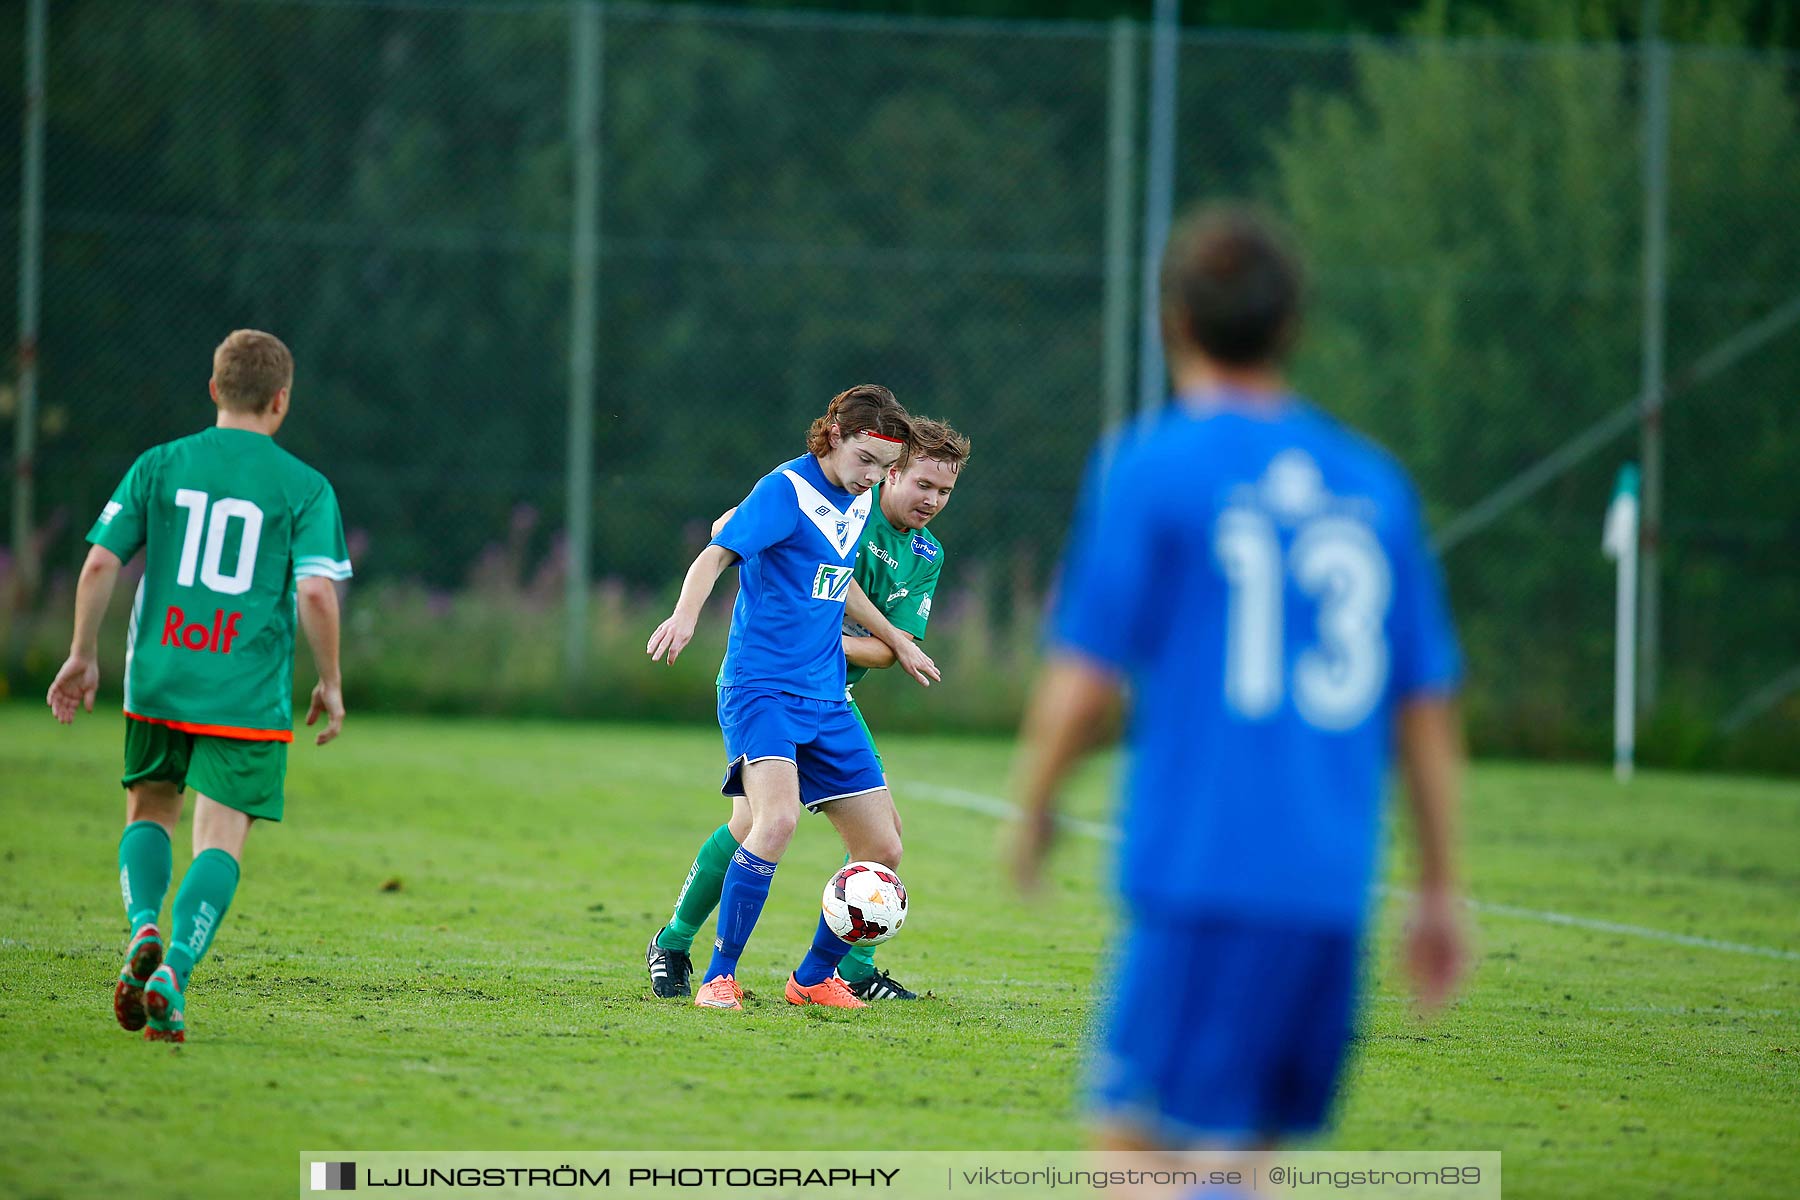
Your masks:
[[[1089,471],[1051,637],[1130,684],[1129,905],[1361,925],[1395,709],[1462,671],[1388,453],[1298,399],[1143,421]]]

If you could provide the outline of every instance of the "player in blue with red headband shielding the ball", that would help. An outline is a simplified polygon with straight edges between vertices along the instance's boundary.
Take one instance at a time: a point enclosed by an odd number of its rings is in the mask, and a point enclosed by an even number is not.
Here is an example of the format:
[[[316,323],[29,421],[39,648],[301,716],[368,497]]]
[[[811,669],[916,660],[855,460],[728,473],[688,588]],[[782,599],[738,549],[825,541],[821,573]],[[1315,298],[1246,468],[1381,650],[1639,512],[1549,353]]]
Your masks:
[[[886,387],[835,396],[808,432],[808,453],[756,484],[693,560],[673,615],[650,637],[650,657],[675,662],[718,576],[742,563],[718,727],[720,790],[749,804],[749,829],[725,867],[698,1007],[743,1007],[738,957],[803,806],[830,817],[851,858],[900,864],[900,819],[844,696],[842,628],[869,489],[905,459],[911,439],[905,408]],[[788,1002],[866,1007],[837,975],[848,950],[821,916],[812,950],[788,975]]]

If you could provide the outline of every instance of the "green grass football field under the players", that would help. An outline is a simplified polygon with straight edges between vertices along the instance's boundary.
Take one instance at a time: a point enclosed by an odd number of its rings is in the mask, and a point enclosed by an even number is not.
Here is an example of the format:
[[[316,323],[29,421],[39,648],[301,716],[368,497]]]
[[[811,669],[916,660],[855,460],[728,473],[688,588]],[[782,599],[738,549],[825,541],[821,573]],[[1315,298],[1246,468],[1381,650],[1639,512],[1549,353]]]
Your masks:
[[[286,1195],[299,1150],[828,1148],[846,1114],[878,1114],[855,1123],[873,1148],[1082,1141],[1105,847],[1067,837],[1051,900],[1012,900],[979,811],[1004,743],[882,745],[914,900],[882,961],[932,997],[781,1004],[839,862],[805,820],[731,1016],[643,977],[722,819],[713,730],[353,714],[295,743],[288,820],[250,840],[176,1052],[110,1011],[121,741],[117,714],[0,709],[9,1196]],[[1076,815],[1103,819],[1105,779]],[[1795,1195],[1800,784],[1494,763],[1467,824],[1480,966],[1418,1024],[1388,905],[1328,1144],[1501,1150],[1510,1196]]]

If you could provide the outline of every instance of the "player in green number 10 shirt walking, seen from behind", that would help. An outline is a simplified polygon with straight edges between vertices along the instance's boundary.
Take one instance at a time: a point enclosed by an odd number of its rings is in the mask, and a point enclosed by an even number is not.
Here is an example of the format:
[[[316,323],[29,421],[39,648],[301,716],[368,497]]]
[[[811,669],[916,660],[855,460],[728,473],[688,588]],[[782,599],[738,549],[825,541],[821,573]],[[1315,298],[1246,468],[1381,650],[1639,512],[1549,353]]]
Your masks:
[[[76,631],[49,703],[68,725],[94,711],[95,644],[119,569],[144,551],[124,678],[126,828],[119,885],[131,934],[113,1015],[151,1042],[185,1040],[187,981],[238,891],[254,820],[281,820],[293,741],[293,628],[306,630],[319,685],[306,723],[319,745],[344,727],[337,579],[349,552],[324,475],[275,446],[293,356],[238,329],[212,354],[218,423],[151,446],[88,533]],[[164,948],[182,788],[194,790],[194,860]],[[146,1027],[148,1024],[148,1027]]]

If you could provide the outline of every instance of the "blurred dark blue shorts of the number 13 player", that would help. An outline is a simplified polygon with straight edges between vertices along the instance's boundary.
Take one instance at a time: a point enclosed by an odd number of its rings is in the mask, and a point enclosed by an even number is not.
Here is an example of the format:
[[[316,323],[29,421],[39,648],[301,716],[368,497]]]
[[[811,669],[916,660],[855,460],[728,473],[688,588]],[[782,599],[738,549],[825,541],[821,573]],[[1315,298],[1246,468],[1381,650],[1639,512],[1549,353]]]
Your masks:
[[[1314,1133],[1355,1020],[1359,936],[1138,912],[1089,1081],[1102,1124],[1170,1146]]]

